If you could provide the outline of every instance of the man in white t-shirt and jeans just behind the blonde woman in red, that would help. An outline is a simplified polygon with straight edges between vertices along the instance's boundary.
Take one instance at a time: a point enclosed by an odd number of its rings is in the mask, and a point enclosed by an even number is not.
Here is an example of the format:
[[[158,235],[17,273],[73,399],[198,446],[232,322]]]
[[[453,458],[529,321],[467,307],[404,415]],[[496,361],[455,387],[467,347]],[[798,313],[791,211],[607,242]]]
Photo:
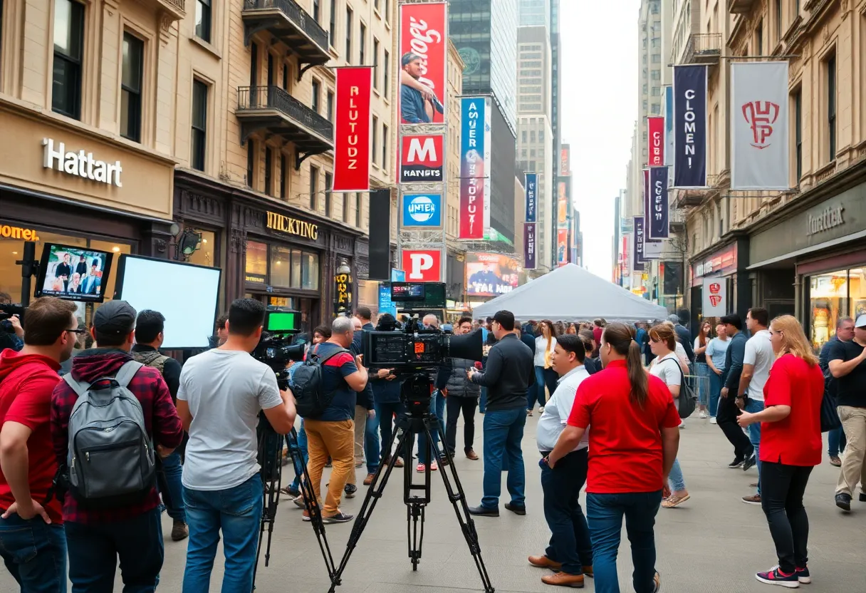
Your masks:
[[[772,352],[770,342],[770,316],[766,309],[753,307],[746,313],[746,328],[752,337],[746,342],[746,353],[743,355],[743,372],[740,375],[740,389],[737,392],[737,407],[755,414],[764,409],[764,386],[770,378],[770,367],[776,356]],[[749,426],[749,441],[754,447],[752,457],[743,464],[745,472],[750,467],[758,466],[758,492],[744,496],[743,502],[748,505],[760,505],[760,422]]]

